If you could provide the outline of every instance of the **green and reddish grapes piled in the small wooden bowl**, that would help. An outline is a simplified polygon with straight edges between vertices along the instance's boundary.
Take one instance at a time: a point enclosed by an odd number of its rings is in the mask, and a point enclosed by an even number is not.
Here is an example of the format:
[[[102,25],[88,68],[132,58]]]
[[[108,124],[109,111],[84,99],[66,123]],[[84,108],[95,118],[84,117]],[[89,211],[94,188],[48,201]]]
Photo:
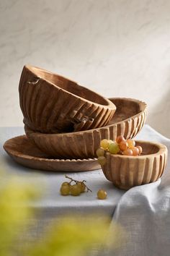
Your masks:
[[[140,155],[143,149],[140,146],[135,146],[135,140],[125,140],[123,136],[118,136],[116,141],[113,140],[101,140],[100,148],[97,149],[98,162],[101,166],[106,163],[105,153],[121,154],[121,155]]]

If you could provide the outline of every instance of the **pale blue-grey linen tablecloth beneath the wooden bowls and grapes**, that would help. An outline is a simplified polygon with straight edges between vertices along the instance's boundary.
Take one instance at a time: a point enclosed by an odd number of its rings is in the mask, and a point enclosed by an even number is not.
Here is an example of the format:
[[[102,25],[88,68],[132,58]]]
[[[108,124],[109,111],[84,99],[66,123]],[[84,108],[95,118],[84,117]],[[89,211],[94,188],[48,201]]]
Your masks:
[[[30,202],[30,205],[40,210],[41,214],[32,220],[29,230],[24,233],[22,239],[31,242],[40,235],[44,225],[66,213],[102,213],[102,216],[111,216],[112,220],[119,222],[125,230],[125,242],[115,255],[170,255],[170,161],[164,176],[157,182],[134,187],[128,192],[113,187],[101,170],[68,173],[74,179],[85,179],[93,192],[84,193],[80,197],[62,197],[59,189],[66,173],[24,168],[14,163],[2,149],[5,140],[22,134],[24,130],[21,127],[0,128],[0,161],[6,175],[17,176],[20,182],[44,188],[43,197],[36,202]],[[170,150],[170,140],[148,125],[143,127],[135,139],[161,142]],[[107,200],[97,200],[99,188],[107,190]],[[103,252],[102,255],[112,253]]]

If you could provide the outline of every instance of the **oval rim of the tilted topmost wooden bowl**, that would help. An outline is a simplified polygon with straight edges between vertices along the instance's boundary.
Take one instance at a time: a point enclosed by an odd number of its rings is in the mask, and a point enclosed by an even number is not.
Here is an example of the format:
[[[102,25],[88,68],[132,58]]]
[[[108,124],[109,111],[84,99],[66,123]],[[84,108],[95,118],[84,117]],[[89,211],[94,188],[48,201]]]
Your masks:
[[[75,82],[75,81],[73,81],[73,80],[71,80],[71,79],[69,79],[69,78],[63,77],[63,76],[60,75],[60,74],[56,74],[56,73],[54,73],[54,72],[50,72],[50,71],[48,71],[48,70],[46,70],[46,69],[42,69],[42,68],[40,68],[40,67],[32,66],[32,65],[30,65],[30,64],[24,65],[23,70],[24,70],[24,69],[29,70],[29,72],[31,72],[31,73],[33,74],[33,76],[34,76],[34,77],[37,77],[39,80],[45,81],[45,82],[49,83],[50,85],[53,85],[55,88],[58,88],[59,90],[62,90],[64,93],[68,93],[69,95],[73,95],[75,98],[80,98],[81,101],[85,101],[85,102],[88,102],[88,103],[92,103],[92,104],[94,104],[94,105],[96,105],[96,106],[102,106],[102,107],[104,107],[104,108],[108,108],[108,109],[113,110],[113,111],[116,110],[115,104],[112,103],[112,101],[109,101],[108,98],[103,97],[103,96],[100,95],[99,93],[96,93],[94,90],[90,90],[89,88],[86,88],[86,87],[84,87],[84,86],[82,86],[82,85],[79,85],[79,83],[77,83],[77,82]],[[42,77],[38,76],[38,75],[36,74],[36,72],[34,72],[34,69],[39,69],[39,70],[41,70],[42,72],[46,72],[46,73],[48,73],[48,74],[53,74],[53,75],[56,75],[56,76],[58,76],[58,77],[62,77],[62,78],[65,79],[65,80],[71,81],[71,82],[73,82],[75,85],[80,86],[82,89],[88,90],[89,93],[94,93],[95,95],[99,96],[99,98],[102,98],[102,100],[105,101],[107,105],[100,104],[100,103],[96,103],[96,102],[94,102],[94,101],[89,101],[89,100],[87,100],[86,98],[82,98],[82,97],[79,96],[79,95],[76,95],[76,94],[74,94],[74,93],[69,92],[68,90],[65,90],[65,89],[63,89],[63,88],[60,88],[58,85],[55,85],[53,82],[50,82],[49,80],[45,80],[45,78],[42,78]],[[22,70],[22,72],[23,72],[23,70]]]

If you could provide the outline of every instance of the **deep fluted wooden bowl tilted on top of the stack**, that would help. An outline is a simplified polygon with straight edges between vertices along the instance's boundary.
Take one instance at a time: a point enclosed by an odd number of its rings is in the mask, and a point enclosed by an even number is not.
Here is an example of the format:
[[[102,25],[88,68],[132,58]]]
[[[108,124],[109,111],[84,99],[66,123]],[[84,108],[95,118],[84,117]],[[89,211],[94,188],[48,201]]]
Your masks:
[[[44,69],[24,66],[19,82],[24,124],[55,133],[102,127],[112,119],[115,105],[76,82]]]

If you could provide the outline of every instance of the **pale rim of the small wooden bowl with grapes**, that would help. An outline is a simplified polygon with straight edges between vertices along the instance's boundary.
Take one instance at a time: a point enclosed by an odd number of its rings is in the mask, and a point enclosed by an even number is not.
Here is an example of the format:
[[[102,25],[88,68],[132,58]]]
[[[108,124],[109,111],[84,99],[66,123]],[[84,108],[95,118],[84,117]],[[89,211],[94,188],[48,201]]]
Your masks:
[[[146,155],[119,155],[119,154],[111,154],[109,152],[106,153],[107,155],[110,155],[111,158],[128,158],[128,159],[143,159],[143,158],[151,158],[151,157],[155,157],[156,155],[161,155],[164,154],[166,152],[168,152],[168,149],[166,148],[166,145],[159,143],[159,142],[151,142],[148,140],[135,140],[135,142],[143,143],[143,144],[150,144],[150,145],[155,145],[158,148],[158,151],[156,153],[151,153],[151,154],[146,154]]]

